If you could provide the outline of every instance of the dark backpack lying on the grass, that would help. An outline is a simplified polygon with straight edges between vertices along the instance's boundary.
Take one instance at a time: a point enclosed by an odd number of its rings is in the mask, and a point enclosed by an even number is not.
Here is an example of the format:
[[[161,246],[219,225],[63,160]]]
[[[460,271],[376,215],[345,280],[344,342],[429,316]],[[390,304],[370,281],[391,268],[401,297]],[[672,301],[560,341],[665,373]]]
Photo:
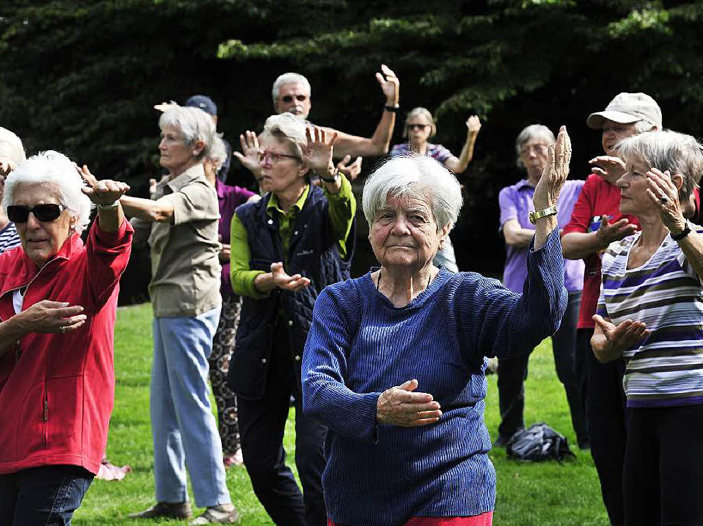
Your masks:
[[[505,450],[509,458],[529,462],[576,458],[569,449],[566,437],[546,423],[534,423],[527,429],[517,431],[508,440]]]

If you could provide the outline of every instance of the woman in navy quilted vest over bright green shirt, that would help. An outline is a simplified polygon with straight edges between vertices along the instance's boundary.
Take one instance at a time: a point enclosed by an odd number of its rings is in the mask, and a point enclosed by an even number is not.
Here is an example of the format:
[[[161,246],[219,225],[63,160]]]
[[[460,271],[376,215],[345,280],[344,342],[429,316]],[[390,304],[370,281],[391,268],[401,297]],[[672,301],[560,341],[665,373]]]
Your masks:
[[[349,277],[354,253],[356,202],[332,162],[335,139],[318,128],[306,131],[290,113],[269,117],[259,152],[266,195],[240,206],[232,220],[232,286],[244,301],[229,382],[237,393],[245,466],[278,525],[327,521],[321,485],[327,428],[302,414],[300,364],[315,298]],[[322,188],[310,185],[310,169]],[[283,449],[291,395],[303,494]]]

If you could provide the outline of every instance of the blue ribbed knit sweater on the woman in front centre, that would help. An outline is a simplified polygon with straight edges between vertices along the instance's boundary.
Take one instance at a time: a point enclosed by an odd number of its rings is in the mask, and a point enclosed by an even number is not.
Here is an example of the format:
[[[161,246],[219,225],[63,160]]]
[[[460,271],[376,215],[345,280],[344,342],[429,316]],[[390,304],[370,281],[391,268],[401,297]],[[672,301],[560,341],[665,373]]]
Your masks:
[[[567,291],[557,230],[529,251],[527,267],[522,294],[444,269],[403,308],[376,291],[370,273],[320,294],[303,357],[303,411],[329,426],[323,488],[334,522],[393,526],[493,510],[484,356],[528,353],[559,327]],[[377,424],[380,393],[413,378],[441,404],[439,421]]]

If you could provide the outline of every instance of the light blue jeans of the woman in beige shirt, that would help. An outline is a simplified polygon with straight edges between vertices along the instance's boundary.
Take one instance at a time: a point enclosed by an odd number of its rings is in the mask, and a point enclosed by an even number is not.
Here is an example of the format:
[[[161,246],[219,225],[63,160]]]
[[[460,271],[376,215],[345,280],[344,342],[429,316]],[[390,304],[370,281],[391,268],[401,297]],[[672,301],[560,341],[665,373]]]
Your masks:
[[[229,504],[222,445],[207,387],[207,358],[220,309],[198,316],[155,317],[151,369],[151,433],[156,500],[188,500],[186,463],[195,504]]]

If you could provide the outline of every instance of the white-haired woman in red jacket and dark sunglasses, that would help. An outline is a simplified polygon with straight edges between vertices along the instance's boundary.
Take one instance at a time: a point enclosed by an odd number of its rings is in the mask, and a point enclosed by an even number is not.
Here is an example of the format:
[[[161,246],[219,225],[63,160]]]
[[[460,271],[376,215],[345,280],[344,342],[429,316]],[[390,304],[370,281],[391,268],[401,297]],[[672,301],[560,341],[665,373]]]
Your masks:
[[[22,243],[0,255],[0,524],[70,524],[100,468],[133,232],[118,201],[128,189],[58,152],[6,180],[2,209]]]

